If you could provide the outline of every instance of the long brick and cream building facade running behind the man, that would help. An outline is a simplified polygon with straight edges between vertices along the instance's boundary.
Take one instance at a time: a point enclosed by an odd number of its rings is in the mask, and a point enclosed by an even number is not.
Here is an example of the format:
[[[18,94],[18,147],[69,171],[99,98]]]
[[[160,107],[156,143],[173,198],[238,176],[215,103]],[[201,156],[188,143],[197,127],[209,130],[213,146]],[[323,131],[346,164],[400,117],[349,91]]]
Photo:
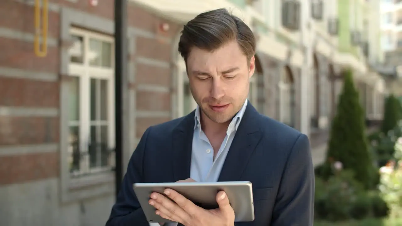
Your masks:
[[[328,21],[345,17],[345,1],[326,0],[323,16],[309,12],[309,26],[289,29],[285,0],[130,0],[124,166],[147,127],[195,108],[178,37],[191,18],[221,7],[258,39],[251,103],[301,129],[313,148],[322,145],[340,69],[368,84],[366,58],[341,45],[350,27],[328,32]],[[35,48],[35,1],[7,0],[0,8],[0,225],[103,225],[115,194],[113,1],[49,0],[43,56]]]

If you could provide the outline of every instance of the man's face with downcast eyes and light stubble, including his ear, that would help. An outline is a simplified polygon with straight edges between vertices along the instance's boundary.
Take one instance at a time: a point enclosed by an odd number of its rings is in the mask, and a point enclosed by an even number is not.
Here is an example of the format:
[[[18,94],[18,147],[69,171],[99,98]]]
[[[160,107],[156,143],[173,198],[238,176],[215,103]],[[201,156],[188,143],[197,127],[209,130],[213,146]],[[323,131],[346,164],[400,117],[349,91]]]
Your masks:
[[[187,58],[187,71],[195,102],[209,119],[224,123],[246,101],[254,57],[247,62],[236,41],[212,52],[193,47]]]

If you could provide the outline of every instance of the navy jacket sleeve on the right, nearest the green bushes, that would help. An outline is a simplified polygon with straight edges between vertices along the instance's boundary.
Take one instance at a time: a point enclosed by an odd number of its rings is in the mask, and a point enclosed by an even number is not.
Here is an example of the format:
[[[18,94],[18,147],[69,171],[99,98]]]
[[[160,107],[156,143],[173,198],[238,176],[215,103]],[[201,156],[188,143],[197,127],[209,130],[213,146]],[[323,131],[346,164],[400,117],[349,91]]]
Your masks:
[[[310,142],[300,134],[285,165],[271,226],[313,226],[314,183]]]

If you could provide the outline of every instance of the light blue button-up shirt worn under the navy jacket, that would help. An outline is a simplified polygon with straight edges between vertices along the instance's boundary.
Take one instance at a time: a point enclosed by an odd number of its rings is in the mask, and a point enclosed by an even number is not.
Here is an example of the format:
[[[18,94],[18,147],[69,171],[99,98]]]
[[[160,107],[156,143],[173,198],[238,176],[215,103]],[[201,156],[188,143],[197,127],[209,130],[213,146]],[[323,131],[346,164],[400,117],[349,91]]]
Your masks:
[[[195,109],[195,125],[193,134],[193,146],[191,150],[191,168],[190,177],[197,182],[216,182],[224,165],[230,145],[233,142],[234,135],[246,111],[247,100],[243,107],[234,116],[226,131],[224,141],[213,159],[213,148],[207,136],[201,129],[200,108]],[[177,223],[168,223],[166,226],[177,226]],[[159,226],[158,223],[150,223],[150,226]]]

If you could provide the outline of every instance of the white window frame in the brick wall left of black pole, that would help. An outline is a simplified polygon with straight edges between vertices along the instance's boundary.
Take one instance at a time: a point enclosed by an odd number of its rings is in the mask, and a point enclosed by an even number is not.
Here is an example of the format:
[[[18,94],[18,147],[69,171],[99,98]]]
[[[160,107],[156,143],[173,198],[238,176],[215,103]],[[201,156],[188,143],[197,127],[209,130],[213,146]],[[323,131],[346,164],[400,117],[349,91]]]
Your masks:
[[[84,41],[84,62],[83,64],[70,62],[68,65],[69,75],[77,76],[80,78],[79,85],[79,136],[80,136],[80,151],[88,152],[88,144],[90,142],[90,79],[102,79],[107,80],[107,126],[108,126],[108,148],[115,148],[115,72],[114,72],[114,39],[111,36],[101,35],[98,33],[94,33],[91,31],[86,31],[78,28],[71,28],[70,35],[78,35],[83,37]],[[103,68],[96,66],[89,66],[89,39],[93,38],[99,41],[106,41],[111,43],[111,67]],[[70,58],[70,56],[69,56]],[[70,123],[69,127],[77,125],[76,123]],[[114,153],[113,153],[114,154]],[[109,172],[114,167],[113,154],[111,156],[110,165],[107,167],[97,167],[97,168],[89,168],[89,155],[85,155],[87,158],[88,167],[86,171],[78,171],[70,174],[70,177],[79,177],[85,175],[93,175],[94,173],[100,172]],[[67,161],[67,159],[63,159],[63,161]],[[84,160],[85,161],[85,160]],[[86,161],[85,161],[86,162]],[[82,163],[81,163],[82,164]],[[80,166],[81,168],[81,166]]]

